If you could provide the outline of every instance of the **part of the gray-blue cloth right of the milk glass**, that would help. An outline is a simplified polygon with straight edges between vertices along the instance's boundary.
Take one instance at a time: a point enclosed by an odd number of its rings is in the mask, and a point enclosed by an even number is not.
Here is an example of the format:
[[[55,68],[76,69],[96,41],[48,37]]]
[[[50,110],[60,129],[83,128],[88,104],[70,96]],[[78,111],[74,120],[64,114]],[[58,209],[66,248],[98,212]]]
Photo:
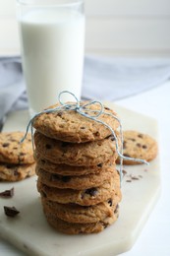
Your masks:
[[[170,59],[87,56],[83,96],[116,100],[163,84],[170,78]]]

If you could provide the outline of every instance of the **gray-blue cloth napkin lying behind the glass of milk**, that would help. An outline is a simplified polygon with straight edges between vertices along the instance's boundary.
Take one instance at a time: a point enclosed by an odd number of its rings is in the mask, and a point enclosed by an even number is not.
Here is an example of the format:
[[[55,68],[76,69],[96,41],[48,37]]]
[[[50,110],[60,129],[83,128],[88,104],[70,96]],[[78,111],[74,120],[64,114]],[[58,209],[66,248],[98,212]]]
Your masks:
[[[116,100],[140,94],[170,78],[170,60],[85,56],[83,98]],[[0,120],[28,108],[20,57],[0,58]]]

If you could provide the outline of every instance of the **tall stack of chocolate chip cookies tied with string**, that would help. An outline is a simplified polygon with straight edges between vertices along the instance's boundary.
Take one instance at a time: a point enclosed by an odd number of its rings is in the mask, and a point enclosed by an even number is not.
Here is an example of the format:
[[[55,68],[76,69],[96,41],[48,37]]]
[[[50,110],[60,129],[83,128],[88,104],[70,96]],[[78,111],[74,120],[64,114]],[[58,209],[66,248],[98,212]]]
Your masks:
[[[93,104],[84,111],[94,115],[98,109]],[[107,107],[104,112],[108,115],[102,113],[98,120],[116,131],[119,123],[110,115],[116,113]],[[70,234],[99,232],[113,224],[121,190],[111,131],[68,109],[41,113],[32,125],[37,189],[47,222]]]

